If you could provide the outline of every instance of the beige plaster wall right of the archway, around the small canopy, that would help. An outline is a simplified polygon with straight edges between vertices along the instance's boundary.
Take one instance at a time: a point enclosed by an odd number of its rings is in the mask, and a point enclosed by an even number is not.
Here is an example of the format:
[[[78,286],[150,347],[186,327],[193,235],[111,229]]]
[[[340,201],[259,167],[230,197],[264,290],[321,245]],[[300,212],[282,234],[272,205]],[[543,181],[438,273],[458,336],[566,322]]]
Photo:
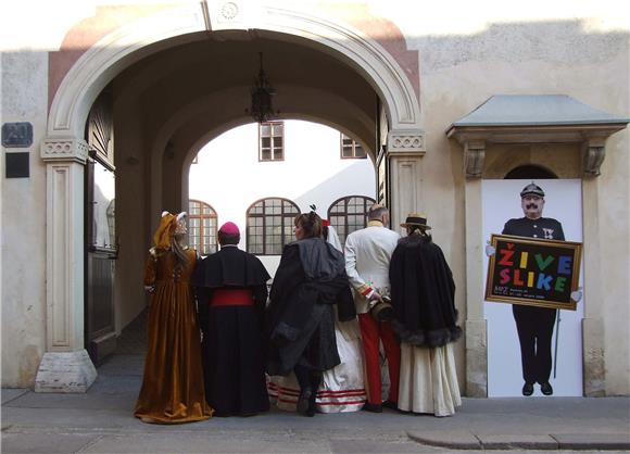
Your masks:
[[[476,7],[482,10],[482,5]],[[500,93],[564,93],[595,109],[629,116],[628,29],[594,29],[592,24],[598,22],[592,17],[542,18],[481,22],[472,31],[466,28],[469,24],[458,31],[453,21],[448,25],[442,23],[443,27],[453,25],[453,28],[436,34],[424,33],[420,25],[415,29],[404,28],[408,46],[420,53],[421,106],[427,130],[424,209],[437,227],[436,240],[445,245],[444,252],[458,276],[458,285],[465,273],[466,251],[461,214],[463,150],[444,136],[452,122],[490,96]],[[541,162],[560,177],[575,177],[580,166],[579,149],[571,146],[536,146],[521,150],[504,147],[503,151],[519,152],[515,165],[526,160]],[[492,147],[487,153],[486,177],[496,178],[502,167],[509,166],[506,162],[509,157]],[[597,306],[604,318],[606,394],[609,395],[630,393],[629,157],[628,133],[622,131],[608,141],[607,157],[597,179],[600,212],[589,215],[601,219],[601,236],[617,239],[602,244],[602,275],[607,277],[605,293],[602,301],[589,302]],[[589,279],[585,276],[585,286]],[[457,300],[459,306],[463,305],[461,298],[462,293]]]

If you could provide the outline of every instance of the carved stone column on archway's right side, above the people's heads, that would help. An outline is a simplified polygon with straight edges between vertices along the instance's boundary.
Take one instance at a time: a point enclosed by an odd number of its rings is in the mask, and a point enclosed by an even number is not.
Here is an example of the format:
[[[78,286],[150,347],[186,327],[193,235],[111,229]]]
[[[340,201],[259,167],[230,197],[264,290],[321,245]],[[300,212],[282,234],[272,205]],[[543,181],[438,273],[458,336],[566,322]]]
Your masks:
[[[391,219],[394,230],[406,215],[424,206],[423,166],[425,133],[420,129],[392,129],[388,133],[387,159],[391,178]]]

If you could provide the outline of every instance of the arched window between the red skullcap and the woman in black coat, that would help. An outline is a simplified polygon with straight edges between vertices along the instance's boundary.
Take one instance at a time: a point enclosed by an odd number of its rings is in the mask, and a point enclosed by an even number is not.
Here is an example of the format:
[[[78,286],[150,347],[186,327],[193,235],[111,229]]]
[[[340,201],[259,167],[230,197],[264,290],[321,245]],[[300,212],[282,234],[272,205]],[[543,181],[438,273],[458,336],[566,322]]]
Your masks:
[[[259,255],[280,255],[294,240],[293,219],[300,209],[287,199],[269,198],[254,202],[247,213],[247,249]]]

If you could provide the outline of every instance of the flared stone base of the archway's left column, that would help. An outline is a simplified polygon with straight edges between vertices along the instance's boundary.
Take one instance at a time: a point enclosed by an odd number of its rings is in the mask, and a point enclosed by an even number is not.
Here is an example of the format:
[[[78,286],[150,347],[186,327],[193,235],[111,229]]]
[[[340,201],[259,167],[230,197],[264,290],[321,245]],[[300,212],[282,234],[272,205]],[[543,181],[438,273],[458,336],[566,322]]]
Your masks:
[[[35,379],[35,392],[87,392],[97,378],[88,352],[47,352]]]

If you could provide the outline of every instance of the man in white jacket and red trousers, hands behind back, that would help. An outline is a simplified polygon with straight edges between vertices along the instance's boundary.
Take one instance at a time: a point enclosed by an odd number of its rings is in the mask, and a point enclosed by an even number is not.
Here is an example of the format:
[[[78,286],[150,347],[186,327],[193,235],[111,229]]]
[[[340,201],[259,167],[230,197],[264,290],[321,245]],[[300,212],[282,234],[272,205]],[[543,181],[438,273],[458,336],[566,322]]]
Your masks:
[[[389,211],[385,206],[373,205],[367,217],[367,227],[345,239],[344,255],[365,354],[367,402],[364,409],[380,413],[382,406],[395,408],[398,405],[401,351],[389,321],[377,321],[369,310],[382,301],[382,294],[389,293],[389,263],[400,235],[387,228]],[[381,400],[379,341],[388,358],[391,383],[386,402]]]

